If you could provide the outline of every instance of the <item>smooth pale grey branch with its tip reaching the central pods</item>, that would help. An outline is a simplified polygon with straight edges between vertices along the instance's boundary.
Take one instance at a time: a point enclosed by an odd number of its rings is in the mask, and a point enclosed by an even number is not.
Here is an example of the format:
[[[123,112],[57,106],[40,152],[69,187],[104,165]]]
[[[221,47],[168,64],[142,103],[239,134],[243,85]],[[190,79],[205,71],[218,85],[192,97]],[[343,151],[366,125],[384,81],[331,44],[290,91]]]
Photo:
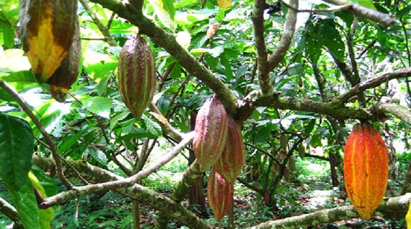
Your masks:
[[[183,140],[176,147],[174,147],[171,150],[171,152],[168,153],[168,155],[162,157],[157,163],[149,166],[146,169],[139,171],[137,174],[129,178],[105,182],[105,183],[85,185],[82,187],[75,187],[72,190],[61,192],[57,195],[45,198],[43,203],[40,204],[40,207],[49,208],[51,206],[61,204],[67,201],[68,199],[74,198],[76,196],[85,195],[85,194],[89,194],[93,192],[130,187],[133,184],[136,184],[137,182],[139,182],[141,179],[148,177],[151,173],[156,171],[158,168],[160,168],[161,166],[163,166],[164,164],[166,164],[167,162],[175,158],[180,153],[180,151],[183,150],[185,146],[189,144],[189,142],[191,141],[193,137],[194,137],[194,132],[186,134]]]

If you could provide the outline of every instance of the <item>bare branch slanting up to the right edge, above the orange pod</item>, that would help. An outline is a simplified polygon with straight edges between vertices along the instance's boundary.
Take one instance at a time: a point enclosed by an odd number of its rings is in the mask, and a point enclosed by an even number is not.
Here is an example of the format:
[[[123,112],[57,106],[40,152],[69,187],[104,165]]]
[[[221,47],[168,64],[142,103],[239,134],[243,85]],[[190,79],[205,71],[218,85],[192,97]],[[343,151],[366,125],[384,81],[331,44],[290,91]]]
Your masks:
[[[387,73],[378,77],[374,77],[368,79],[364,82],[356,84],[353,88],[351,88],[345,94],[335,98],[332,102],[335,103],[346,103],[352,97],[358,95],[360,92],[365,91],[370,88],[378,87],[380,84],[390,81],[392,79],[404,78],[407,76],[411,76],[411,67],[410,68],[403,68],[392,73]]]

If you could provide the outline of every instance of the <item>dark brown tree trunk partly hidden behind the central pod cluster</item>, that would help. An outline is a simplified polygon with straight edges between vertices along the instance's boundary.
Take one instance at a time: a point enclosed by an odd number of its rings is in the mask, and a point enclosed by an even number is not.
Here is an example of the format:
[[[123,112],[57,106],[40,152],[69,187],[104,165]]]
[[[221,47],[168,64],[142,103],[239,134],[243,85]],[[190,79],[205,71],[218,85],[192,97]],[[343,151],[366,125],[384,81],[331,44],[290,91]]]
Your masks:
[[[191,130],[195,129],[196,126],[197,112],[191,113],[190,127]],[[188,156],[188,166],[190,166],[196,160],[196,155],[190,150]],[[197,180],[196,184],[192,185],[190,191],[188,192],[188,203],[189,205],[200,205],[205,208],[205,196],[204,196],[204,186],[203,186],[203,175]]]

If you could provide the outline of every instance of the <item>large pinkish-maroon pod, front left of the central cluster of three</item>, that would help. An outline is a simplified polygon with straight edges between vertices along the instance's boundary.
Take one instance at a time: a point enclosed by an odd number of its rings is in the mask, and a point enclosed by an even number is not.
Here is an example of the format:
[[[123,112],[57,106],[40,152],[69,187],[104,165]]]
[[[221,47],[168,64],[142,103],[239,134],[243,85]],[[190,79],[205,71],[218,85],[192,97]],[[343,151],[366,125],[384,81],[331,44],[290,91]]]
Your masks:
[[[227,113],[217,98],[210,98],[201,106],[192,140],[200,171],[207,171],[223,153],[228,135]]]

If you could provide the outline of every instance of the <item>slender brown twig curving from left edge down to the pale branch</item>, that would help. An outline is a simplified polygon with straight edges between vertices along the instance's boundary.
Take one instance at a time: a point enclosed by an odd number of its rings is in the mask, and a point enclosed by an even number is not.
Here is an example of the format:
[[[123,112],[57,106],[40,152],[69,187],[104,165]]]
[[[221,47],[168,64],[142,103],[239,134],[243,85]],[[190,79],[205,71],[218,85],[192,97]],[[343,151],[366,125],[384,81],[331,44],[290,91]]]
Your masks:
[[[50,135],[45,131],[43,125],[41,122],[37,119],[37,117],[33,114],[31,108],[29,105],[18,95],[18,93],[9,86],[8,83],[6,83],[3,79],[0,78],[0,87],[2,87],[7,93],[9,93],[14,100],[17,101],[17,103],[20,105],[21,109],[23,109],[27,115],[30,117],[30,119],[33,121],[34,125],[36,125],[37,129],[40,131],[40,133],[43,135],[45,141],[47,142],[47,145],[49,145],[50,151],[52,152],[53,158],[56,161],[56,171],[57,171],[57,176],[63,182],[63,184],[68,188],[71,189],[74,186],[65,178],[63,170],[62,170],[62,165],[61,165],[61,158],[60,155],[57,153],[57,148],[56,145],[54,144],[52,138]]]

